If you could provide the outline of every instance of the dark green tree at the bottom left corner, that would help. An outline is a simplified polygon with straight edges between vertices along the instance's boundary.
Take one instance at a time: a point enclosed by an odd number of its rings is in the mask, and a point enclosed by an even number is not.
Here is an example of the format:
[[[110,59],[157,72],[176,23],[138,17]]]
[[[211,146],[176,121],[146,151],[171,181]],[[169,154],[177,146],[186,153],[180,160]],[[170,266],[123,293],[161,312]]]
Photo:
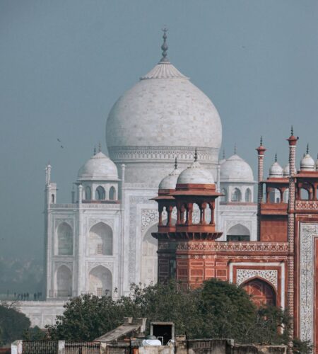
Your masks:
[[[30,320],[25,314],[16,311],[13,306],[0,305],[0,343],[11,343],[20,339],[23,332],[30,327]]]

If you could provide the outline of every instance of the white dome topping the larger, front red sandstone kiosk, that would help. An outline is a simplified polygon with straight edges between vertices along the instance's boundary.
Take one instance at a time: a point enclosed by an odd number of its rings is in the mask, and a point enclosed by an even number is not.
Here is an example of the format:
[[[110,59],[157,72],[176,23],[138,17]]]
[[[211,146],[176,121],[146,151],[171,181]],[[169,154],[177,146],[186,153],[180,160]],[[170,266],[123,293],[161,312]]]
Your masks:
[[[187,169],[183,170],[177,179],[177,184],[213,184],[214,179],[212,173],[201,166],[199,161],[194,163]]]

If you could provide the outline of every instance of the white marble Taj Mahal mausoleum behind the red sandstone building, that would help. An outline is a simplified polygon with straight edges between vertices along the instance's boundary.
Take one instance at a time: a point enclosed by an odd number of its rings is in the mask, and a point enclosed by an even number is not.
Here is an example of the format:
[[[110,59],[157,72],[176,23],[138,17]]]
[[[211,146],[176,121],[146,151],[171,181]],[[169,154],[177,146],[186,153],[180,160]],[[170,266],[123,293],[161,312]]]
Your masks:
[[[216,107],[167,59],[166,34],[162,49],[160,62],[114,103],[106,124],[108,154],[99,149],[79,169],[70,204],[58,204],[47,166],[47,299],[118,297],[133,282],[157,281],[158,244],[151,233],[158,212],[151,198],[159,185],[176,183],[195,149],[224,194],[216,218],[225,230],[222,240],[257,239],[252,169],[237,154],[219,160]]]

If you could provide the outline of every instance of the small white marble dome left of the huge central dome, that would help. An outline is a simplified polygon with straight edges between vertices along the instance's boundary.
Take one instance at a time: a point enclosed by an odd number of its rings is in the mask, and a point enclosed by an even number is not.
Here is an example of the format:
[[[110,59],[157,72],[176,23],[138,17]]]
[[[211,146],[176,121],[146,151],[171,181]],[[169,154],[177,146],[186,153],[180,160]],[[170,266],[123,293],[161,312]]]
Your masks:
[[[78,171],[78,180],[118,180],[117,166],[105,154],[98,152]]]

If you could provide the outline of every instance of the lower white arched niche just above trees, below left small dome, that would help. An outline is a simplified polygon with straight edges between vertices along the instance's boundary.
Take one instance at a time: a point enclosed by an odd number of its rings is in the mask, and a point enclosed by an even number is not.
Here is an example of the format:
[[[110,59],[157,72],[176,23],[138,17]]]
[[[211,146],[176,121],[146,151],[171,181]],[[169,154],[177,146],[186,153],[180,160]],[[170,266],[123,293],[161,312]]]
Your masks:
[[[98,265],[88,274],[88,286],[93,295],[112,296],[112,273],[103,265]]]

